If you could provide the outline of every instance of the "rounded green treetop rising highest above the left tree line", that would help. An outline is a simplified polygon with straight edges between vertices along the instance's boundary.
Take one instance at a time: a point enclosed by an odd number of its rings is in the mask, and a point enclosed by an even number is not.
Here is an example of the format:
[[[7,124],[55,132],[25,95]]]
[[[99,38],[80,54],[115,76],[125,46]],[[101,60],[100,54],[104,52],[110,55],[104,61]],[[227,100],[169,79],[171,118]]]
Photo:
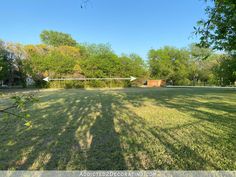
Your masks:
[[[76,46],[76,41],[71,35],[57,31],[44,30],[40,34],[40,38],[44,44],[51,46]]]

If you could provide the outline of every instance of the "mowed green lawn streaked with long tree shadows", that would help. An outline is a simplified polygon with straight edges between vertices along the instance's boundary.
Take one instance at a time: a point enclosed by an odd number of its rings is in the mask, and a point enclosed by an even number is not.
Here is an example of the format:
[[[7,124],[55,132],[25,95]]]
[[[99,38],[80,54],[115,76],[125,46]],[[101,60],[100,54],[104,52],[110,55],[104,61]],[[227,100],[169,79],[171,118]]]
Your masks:
[[[11,94],[1,95],[0,108]],[[236,90],[46,90],[0,117],[0,169],[236,170]]]

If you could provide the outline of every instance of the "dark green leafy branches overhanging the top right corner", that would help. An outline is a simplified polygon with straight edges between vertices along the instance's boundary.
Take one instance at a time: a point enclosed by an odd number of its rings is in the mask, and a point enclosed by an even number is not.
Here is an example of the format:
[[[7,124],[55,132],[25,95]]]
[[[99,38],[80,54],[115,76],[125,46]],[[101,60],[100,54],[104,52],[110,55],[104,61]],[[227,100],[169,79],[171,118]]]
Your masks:
[[[200,45],[235,53],[236,1],[213,0],[213,2],[214,5],[207,6],[205,10],[208,19],[198,21],[198,27],[194,27],[195,33],[200,35]]]

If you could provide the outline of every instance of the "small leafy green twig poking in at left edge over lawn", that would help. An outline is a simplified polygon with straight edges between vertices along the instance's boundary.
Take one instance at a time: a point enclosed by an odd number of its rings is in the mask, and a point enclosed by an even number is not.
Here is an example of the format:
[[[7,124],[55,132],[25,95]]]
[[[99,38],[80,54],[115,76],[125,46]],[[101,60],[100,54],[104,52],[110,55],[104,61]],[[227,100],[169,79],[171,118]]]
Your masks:
[[[30,104],[37,102],[38,98],[36,98],[34,94],[29,94],[12,96],[11,99],[13,100],[13,104],[7,108],[0,109],[0,113],[21,118],[24,121],[25,126],[32,126],[32,122],[28,120],[30,118],[30,114],[28,113],[28,111],[26,111],[26,108]],[[17,110],[17,113],[11,111],[13,109]]]

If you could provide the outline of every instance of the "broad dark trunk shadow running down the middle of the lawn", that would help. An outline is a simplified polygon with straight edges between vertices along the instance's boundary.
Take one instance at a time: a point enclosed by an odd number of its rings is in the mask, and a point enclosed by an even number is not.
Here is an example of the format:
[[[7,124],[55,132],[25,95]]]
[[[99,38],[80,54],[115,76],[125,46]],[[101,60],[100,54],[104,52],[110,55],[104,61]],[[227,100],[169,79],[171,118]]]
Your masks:
[[[112,95],[100,94],[101,114],[90,128],[93,137],[88,151],[89,170],[125,170],[119,137],[115,130],[113,105],[120,104]]]

